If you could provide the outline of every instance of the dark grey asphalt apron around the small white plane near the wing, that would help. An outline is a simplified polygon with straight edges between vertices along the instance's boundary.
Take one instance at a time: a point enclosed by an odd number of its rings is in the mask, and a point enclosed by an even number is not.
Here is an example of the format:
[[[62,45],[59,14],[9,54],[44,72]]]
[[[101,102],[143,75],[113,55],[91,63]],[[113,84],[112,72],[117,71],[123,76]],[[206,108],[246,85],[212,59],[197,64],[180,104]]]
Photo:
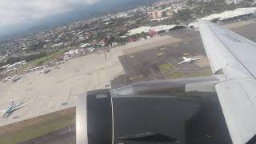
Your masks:
[[[150,50],[142,50],[134,54],[122,55],[119,57],[127,74],[129,83],[166,79],[166,74],[162,74],[162,71],[159,69],[159,66],[162,64],[170,64],[171,66],[174,66],[175,69],[186,74],[194,74],[198,73],[198,71],[210,69],[208,62],[206,66],[197,66],[194,63],[178,65],[179,62],[183,61],[183,56],[206,57],[202,40],[198,32],[183,29],[169,32],[167,35],[180,38],[182,39],[182,42],[170,43],[165,46],[155,47]]]

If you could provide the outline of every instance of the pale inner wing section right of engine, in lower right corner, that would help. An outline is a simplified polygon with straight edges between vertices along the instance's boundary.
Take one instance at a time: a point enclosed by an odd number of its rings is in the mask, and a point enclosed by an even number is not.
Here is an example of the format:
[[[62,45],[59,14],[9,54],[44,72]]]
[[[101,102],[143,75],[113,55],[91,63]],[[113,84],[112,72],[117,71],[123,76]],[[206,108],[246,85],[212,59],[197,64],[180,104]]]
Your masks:
[[[249,142],[256,134],[255,87],[256,82],[250,78],[229,80],[215,86],[234,144]]]

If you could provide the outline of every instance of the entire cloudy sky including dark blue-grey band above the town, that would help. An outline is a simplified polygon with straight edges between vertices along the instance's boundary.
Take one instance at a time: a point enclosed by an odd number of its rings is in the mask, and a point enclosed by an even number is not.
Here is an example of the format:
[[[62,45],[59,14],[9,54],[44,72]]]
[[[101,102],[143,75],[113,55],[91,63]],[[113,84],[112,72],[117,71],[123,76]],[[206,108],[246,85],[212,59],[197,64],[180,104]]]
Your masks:
[[[61,25],[93,13],[148,1],[152,0],[0,0],[0,41],[27,30],[38,30],[40,26]]]

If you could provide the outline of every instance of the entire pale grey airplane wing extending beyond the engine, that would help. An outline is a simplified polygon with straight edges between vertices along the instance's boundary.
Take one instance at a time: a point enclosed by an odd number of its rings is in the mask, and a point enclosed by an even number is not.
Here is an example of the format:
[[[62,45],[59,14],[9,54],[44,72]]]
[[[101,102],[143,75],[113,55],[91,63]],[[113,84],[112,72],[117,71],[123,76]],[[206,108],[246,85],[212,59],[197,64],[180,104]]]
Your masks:
[[[199,29],[213,73],[226,77],[215,89],[232,142],[252,142],[256,137],[256,43],[211,22],[201,22]]]

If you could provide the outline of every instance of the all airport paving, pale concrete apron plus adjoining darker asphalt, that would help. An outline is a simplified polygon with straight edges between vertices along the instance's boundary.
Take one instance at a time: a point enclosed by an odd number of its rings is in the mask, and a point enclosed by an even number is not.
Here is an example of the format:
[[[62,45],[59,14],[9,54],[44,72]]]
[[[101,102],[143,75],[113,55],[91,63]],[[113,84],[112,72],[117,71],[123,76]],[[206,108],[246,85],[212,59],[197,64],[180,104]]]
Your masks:
[[[238,34],[255,41],[255,26],[255,22],[250,22],[246,26],[239,25],[233,28]],[[170,40],[172,38],[174,41]],[[168,39],[170,40],[169,44],[166,43]],[[164,45],[161,42],[165,42]],[[152,46],[144,49],[143,47],[147,46],[148,43]],[[143,51],[135,50],[135,53],[132,54],[133,49]],[[123,52],[128,54],[123,54]],[[106,54],[107,61],[105,61],[104,54],[90,54],[81,58],[74,58],[46,75],[39,74],[40,71],[35,71],[25,74],[18,82],[1,82],[0,110],[6,109],[10,98],[18,98],[15,102],[26,102],[27,105],[16,110],[8,118],[0,118],[0,126],[75,106],[78,94],[87,90],[105,88],[107,84],[110,84],[110,80],[125,73],[131,77],[142,74],[142,77],[154,79],[155,76],[159,76],[159,69],[154,69],[156,67],[154,64],[180,62],[184,53],[202,58],[205,56],[199,33],[186,29],[174,31],[163,37],[118,46]],[[125,60],[122,60],[122,57]],[[136,62],[138,65],[134,65]],[[128,63],[127,66],[125,66],[126,63]],[[203,64],[205,66],[202,64],[184,64],[184,66],[196,72],[198,68],[202,70],[207,67],[207,62],[203,62]],[[129,70],[127,68],[129,66],[134,67]],[[160,78],[163,77],[160,75]],[[62,106],[63,102],[68,102],[68,105]],[[18,118],[14,119],[14,116],[18,116]]]

